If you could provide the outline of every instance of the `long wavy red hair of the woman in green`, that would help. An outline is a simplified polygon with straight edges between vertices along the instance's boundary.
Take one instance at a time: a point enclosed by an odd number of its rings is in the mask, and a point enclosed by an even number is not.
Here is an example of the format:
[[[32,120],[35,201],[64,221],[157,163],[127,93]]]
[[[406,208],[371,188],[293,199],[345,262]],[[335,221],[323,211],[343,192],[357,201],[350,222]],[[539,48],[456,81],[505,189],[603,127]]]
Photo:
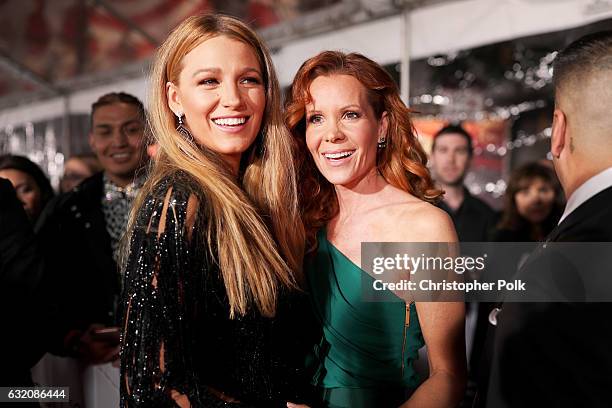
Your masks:
[[[397,85],[376,62],[357,53],[324,51],[302,64],[285,103],[285,123],[299,145],[299,189],[306,227],[306,248],[317,247],[316,233],[338,214],[334,186],[317,169],[306,147],[306,105],[310,85],[319,76],[351,75],[368,91],[378,119],[387,112],[387,145],[379,149],[377,167],[384,179],[424,201],[434,202],[442,192],[434,187],[427,169],[427,155],[416,138],[410,110],[402,102]]]

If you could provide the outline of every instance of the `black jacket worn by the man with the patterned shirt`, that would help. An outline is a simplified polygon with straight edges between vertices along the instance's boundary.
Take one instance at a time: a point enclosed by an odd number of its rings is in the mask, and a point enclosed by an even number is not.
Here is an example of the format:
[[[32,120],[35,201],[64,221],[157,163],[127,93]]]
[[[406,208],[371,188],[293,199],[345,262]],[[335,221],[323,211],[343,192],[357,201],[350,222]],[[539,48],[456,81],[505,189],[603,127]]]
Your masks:
[[[53,199],[37,224],[48,263],[45,286],[57,306],[51,351],[64,354],[64,336],[90,324],[115,325],[120,277],[102,212],[104,183],[96,174]]]

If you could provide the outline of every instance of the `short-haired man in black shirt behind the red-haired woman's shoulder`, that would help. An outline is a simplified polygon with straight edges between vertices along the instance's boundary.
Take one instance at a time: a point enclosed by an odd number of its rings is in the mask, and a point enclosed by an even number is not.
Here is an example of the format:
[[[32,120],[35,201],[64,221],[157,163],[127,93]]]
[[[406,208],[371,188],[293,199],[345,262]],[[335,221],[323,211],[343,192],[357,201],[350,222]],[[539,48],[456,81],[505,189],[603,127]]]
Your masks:
[[[438,206],[451,216],[460,242],[487,241],[497,221],[495,211],[463,184],[472,156],[472,137],[461,126],[448,125],[434,135],[430,164],[444,190]]]

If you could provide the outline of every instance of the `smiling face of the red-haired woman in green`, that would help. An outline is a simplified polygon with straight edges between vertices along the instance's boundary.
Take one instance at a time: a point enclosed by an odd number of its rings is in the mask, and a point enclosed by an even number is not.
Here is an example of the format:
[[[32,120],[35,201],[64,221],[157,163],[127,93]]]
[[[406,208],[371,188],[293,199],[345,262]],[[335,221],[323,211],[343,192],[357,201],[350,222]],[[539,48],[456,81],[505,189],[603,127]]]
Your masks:
[[[319,76],[306,105],[306,145],[323,176],[351,187],[376,171],[377,143],[387,115],[376,118],[367,89],[353,76]]]

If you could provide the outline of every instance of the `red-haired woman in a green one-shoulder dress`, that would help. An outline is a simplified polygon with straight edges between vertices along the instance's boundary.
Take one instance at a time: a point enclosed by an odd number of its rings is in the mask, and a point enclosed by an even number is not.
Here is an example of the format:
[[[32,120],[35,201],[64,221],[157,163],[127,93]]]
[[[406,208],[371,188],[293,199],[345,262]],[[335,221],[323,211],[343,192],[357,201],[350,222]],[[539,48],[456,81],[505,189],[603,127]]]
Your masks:
[[[454,407],[465,384],[464,305],[365,302],[362,242],[455,242],[409,110],[391,77],[359,54],[323,52],[294,79],[286,123],[302,148],[307,280],[323,327],[328,407]],[[413,361],[427,345],[429,378]]]

